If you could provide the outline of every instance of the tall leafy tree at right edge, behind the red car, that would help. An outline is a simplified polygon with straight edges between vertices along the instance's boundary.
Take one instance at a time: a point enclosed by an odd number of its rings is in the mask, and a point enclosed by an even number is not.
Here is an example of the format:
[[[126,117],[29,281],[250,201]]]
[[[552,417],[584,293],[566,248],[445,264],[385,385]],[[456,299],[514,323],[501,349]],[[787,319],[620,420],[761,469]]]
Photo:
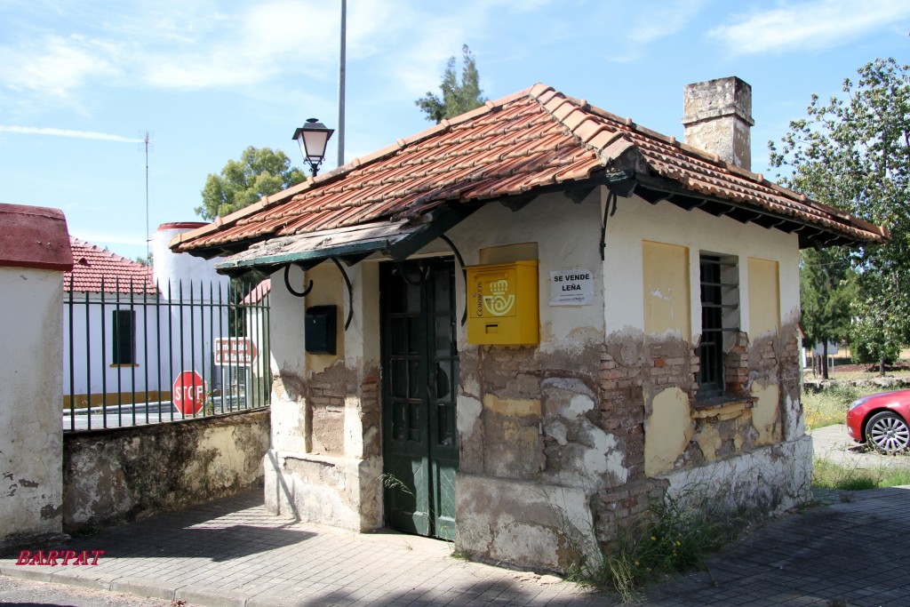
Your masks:
[[[910,67],[875,59],[844,79],[845,99],[812,97],[808,117],[790,123],[771,164],[789,167],[782,181],[824,204],[885,226],[891,239],[861,247],[853,313],[857,330],[882,352],[910,340]]]

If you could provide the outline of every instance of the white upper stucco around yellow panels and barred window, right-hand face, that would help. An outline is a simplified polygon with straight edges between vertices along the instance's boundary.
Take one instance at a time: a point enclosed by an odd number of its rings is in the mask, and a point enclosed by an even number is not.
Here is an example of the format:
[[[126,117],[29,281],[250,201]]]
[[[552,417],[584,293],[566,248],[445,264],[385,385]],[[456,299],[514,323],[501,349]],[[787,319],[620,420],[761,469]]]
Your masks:
[[[605,192],[605,190],[604,190]],[[642,306],[629,305],[629,294],[642,293],[642,240],[689,248],[689,284],[693,341],[702,332],[701,294],[698,284],[702,252],[739,258],[740,328],[748,333],[748,258],[776,261],[780,268],[781,322],[799,318],[799,241],[795,234],[715,218],[700,210],[685,211],[668,202],[652,205],[642,198],[619,198],[616,214],[607,225],[606,260],[603,262],[607,334],[623,329],[644,329]]]

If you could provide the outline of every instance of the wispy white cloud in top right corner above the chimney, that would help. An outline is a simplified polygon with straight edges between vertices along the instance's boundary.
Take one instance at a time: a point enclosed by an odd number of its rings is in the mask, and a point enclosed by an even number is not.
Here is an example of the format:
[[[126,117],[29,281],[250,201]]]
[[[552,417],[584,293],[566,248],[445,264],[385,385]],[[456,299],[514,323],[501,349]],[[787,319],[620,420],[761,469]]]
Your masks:
[[[739,15],[708,32],[734,53],[823,49],[910,17],[906,0],[809,0]]]

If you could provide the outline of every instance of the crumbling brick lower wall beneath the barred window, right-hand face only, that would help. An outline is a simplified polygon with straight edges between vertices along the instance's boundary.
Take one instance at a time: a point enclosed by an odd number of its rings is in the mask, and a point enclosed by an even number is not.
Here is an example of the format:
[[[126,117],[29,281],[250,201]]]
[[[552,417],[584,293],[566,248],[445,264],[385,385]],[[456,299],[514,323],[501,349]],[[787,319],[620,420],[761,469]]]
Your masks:
[[[626,485],[595,502],[609,542],[664,491],[720,510],[792,507],[811,477],[799,401],[794,324],[751,342],[739,332],[725,355],[727,397],[695,398],[700,361],[682,339],[614,335],[601,354],[601,409],[624,436]],[[788,459],[790,458],[790,459]]]

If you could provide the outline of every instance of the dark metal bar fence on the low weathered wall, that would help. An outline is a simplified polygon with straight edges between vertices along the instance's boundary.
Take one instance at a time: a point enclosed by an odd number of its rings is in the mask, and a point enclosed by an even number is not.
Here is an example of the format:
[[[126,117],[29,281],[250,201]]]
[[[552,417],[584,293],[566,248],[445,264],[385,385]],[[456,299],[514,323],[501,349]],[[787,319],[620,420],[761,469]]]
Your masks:
[[[157,294],[64,298],[65,431],[220,415],[269,404],[268,287],[178,281]],[[108,283],[108,287],[110,283]],[[108,290],[110,290],[108,288]]]

